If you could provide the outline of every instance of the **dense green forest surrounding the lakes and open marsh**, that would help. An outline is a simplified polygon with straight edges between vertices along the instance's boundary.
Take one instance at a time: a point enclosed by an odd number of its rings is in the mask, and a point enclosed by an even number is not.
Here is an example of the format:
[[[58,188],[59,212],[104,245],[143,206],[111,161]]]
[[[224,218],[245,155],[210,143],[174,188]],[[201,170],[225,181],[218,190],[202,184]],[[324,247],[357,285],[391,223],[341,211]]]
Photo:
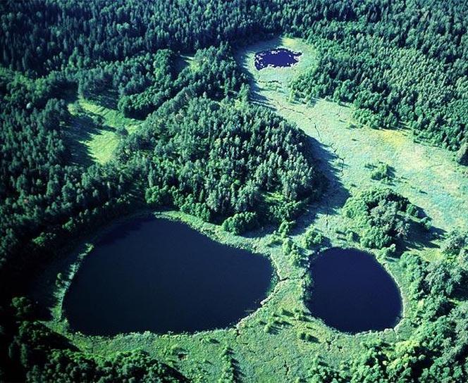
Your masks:
[[[347,106],[350,131],[404,131],[450,158],[434,179],[450,182],[457,172],[466,186],[464,1],[1,1],[0,382],[211,381],[191,373],[192,362],[140,346],[85,349],[44,323],[29,296],[28,282],[52,260],[136,211],[177,211],[226,236],[271,229],[265,241],[283,257],[275,267],[292,268],[304,286],[313,285],[309,261],[335,238],[396,264],[408,307],[401,337],[346,339],[360,351],[335,364],[325,347],[297,351],[303,370],[287,377],[238,373],[251,371],[242,365],[248,358],[237,365],[238,340],[228,338],[218,382],[468,381],[467,205],[455,208],[455,225],[438,227],[443,218],[427,213],[436,203],[420,206],[429,196],[414,201],[395,189],[390,165],[363,158],[374,187],[357,181],[333,206],[334,185],[347,184],[329,174],[325,149],[259,100],[238,58],[278,36],[316,52],[314,65],[288,82],[285,109],[317,100]],[[77,105],[87,108],[77,114]],[[104,149],[90,146],[99,134]],[[340,139],[351,145],[347,134]],[[94,161],[90,147],[109,151],[109,161]],[[424,188],[425,180],[413,183]],[[468,201],[468,188],[445,186]],[[450,215],[443,198],[437,208]],[[343,225],[327,221],[332,234],[301,226],[324,206]],[[429,248],[437,256],[421,255]],[[262,337],[278,320],[261,322]],[[309,327],[299,331],[302,342],[314,338]],[[280,358],[286,341],[274,336]]]

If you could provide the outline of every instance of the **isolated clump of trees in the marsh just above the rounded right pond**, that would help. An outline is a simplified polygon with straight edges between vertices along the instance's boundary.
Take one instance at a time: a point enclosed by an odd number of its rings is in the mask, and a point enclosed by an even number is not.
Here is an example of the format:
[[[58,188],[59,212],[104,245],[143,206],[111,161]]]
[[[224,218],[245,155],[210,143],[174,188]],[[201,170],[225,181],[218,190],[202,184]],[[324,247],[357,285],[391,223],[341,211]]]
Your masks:
[[[345,214],[355,221],[363,246],[382,249],[407,237],[409,201],[388,188],[370,189],[346,201]]]

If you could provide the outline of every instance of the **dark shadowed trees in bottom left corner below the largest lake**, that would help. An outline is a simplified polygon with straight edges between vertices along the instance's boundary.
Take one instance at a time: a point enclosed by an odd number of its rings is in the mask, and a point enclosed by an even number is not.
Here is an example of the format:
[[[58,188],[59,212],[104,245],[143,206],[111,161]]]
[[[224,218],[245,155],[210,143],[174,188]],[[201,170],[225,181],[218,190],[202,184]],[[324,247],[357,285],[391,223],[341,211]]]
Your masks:
[[[183,382],[175,370],[144,351],[99,357],[70,349],[66,339],[39,322],[22,322],[9,348],[28,382]]]

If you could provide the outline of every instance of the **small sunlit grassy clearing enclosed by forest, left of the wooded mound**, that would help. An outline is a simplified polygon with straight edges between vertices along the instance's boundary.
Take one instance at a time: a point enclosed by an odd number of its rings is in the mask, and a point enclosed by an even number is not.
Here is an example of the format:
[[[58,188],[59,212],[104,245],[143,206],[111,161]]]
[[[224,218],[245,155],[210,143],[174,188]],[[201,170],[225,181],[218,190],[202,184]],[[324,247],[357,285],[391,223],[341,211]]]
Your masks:
[[[121,139],[118,129],[123,127],[131,134],[141,123],[83,98],[68,103],[68,111],[73,116],[68,127],[72,161],[82,165],[111,160]]]

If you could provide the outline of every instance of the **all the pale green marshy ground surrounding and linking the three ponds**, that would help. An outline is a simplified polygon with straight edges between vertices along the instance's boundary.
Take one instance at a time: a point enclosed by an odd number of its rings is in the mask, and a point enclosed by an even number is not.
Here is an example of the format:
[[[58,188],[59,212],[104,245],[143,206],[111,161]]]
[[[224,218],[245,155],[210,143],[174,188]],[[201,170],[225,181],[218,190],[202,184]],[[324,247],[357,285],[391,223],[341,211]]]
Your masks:
[[[278,47],[302,52],[299,62],[290,68],[259,71],[254,67],[257,52]],[[415,144],[411,133],[404,130],[354,127],[350,106],[325,100],[314,100],[309,104],[295,100],[288,83],[316,62],[316,51],[312,46],[298,39],[275,39],[250,46],[240,51],[237,58],[250,75],[254,101],[273,108],[307,133],[316,157],[321,160],[321,168],[330,180],[327,195],[300,220],[294,237],[298,244],[305,228],[313,225],[329,239],[330,246],[350,245],[340,234],[349,223],[340,208],[350,194],[378,184],[371,180],[371,170],[366,165],[375,165],[379,161],[393,169],[390,186],[422,208],[438,232],[450,230],[455,225],[467,225],[468,176],[452,161],[452,153]],[[193,65],[190,61],[189,64]],[[223,232],[221,227],[183,213],[169,212],[163,216],[183,220],[223,243],[269,256],[278,282],[261,302],[261,307],[229,329],[197,334],[144,332],[87,337],[69,331],[61,313],[62,289],[55,291],[54,319],[49,326],[66,334],[73,344],[85,351],[105,354],[144,349],[194,382],[216,382],[223,376],[233,376],[242,382],[291,382],[307,377],[307,363],[317,355],[331,365],[348,363],[362,353],[362,344],[366,341],[376,338],[388,342],[404,341],[412,332],[410,317],[418,302],[407,299],[406,282],[398,260],[383,260],[383,265],[400,287],[402,320],[395,329],[349,335],[327,327],[310,315],[302,296],[306,271],[297,268],[283,255],[281,245],[273,243],[271,234],[236,237]],[[440,256],[438,240],[431,236],[415,241],[410,248],[429,260]],[[75,254],[75,259],[79,258],[79,253]],[[73,259],[69,270],[73,276],[73,270],[76,270]],[[226,347],[228,356],[224,351]],[[234,372],[230,372],[231,367]]]

